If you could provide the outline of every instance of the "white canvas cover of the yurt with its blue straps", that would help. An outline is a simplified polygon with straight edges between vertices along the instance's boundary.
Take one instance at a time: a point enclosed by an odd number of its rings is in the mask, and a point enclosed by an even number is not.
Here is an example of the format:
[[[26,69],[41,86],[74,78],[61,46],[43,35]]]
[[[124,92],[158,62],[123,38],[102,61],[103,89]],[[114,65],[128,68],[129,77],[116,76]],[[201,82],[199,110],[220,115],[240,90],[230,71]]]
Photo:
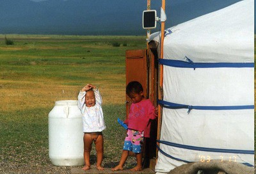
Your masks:
[[[156,172],[212,159],[254,165],[253,3],[166,29]]]

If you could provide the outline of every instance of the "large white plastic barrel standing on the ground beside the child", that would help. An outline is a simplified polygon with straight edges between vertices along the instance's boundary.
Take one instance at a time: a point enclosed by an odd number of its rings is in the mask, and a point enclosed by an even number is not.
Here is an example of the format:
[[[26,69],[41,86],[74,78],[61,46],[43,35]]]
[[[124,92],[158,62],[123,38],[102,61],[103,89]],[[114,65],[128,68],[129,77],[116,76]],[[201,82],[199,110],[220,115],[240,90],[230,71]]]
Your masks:
[[[49,113],[49,158],[56,166],[82,166],[83,122],[77,100],[59,100]]]

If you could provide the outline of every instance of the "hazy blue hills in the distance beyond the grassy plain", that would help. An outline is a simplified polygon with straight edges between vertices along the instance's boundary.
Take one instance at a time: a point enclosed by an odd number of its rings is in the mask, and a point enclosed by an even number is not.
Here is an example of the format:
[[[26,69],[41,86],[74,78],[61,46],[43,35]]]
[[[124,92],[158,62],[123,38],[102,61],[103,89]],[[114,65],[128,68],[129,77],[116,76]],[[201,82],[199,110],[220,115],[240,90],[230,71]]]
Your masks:
[[[166,1],[166,28],[237,1]],[[2,34],[145,35],[141,26],[145,0],[1,0],[0,6]],[[159,17],[160,7],[161,1],[152,1]]]

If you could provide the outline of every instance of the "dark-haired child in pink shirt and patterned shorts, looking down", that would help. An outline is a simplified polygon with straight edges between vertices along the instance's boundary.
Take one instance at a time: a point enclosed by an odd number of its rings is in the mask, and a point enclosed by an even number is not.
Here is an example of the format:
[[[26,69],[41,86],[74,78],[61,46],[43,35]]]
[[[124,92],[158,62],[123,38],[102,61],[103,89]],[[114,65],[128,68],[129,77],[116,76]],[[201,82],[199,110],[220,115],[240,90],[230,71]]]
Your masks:
[[[143,95],[143,87],[137,81],[127,84],[126,94],[132,99],[129,117],[125,120],[128,125],[127,136],[124,141],[124,148],[119,164],[112,168],[112,171],[123,170],[124,163],[129,155],[129,151],[136,154],[137,165],[131,171],[142,170],[141,146],[143,138],[150,137],[150,119],[157,116],[157,109],[149,99]]]

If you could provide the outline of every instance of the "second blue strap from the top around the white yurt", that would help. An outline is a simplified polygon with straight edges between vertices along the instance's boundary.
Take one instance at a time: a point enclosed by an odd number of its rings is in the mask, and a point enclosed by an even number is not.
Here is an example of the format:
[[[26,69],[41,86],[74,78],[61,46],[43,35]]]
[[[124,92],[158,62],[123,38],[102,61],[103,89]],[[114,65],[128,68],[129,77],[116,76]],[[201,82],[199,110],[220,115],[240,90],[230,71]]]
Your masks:
[[[244,106],[191,106],[186,104],[176,104],[172,102],[166,102],[164,100],[158,100],[158,104],[169,109],[188,109],[188,113],[191,109],[199,110],[240,110],[240,109],[254,109],[254,105]]]

